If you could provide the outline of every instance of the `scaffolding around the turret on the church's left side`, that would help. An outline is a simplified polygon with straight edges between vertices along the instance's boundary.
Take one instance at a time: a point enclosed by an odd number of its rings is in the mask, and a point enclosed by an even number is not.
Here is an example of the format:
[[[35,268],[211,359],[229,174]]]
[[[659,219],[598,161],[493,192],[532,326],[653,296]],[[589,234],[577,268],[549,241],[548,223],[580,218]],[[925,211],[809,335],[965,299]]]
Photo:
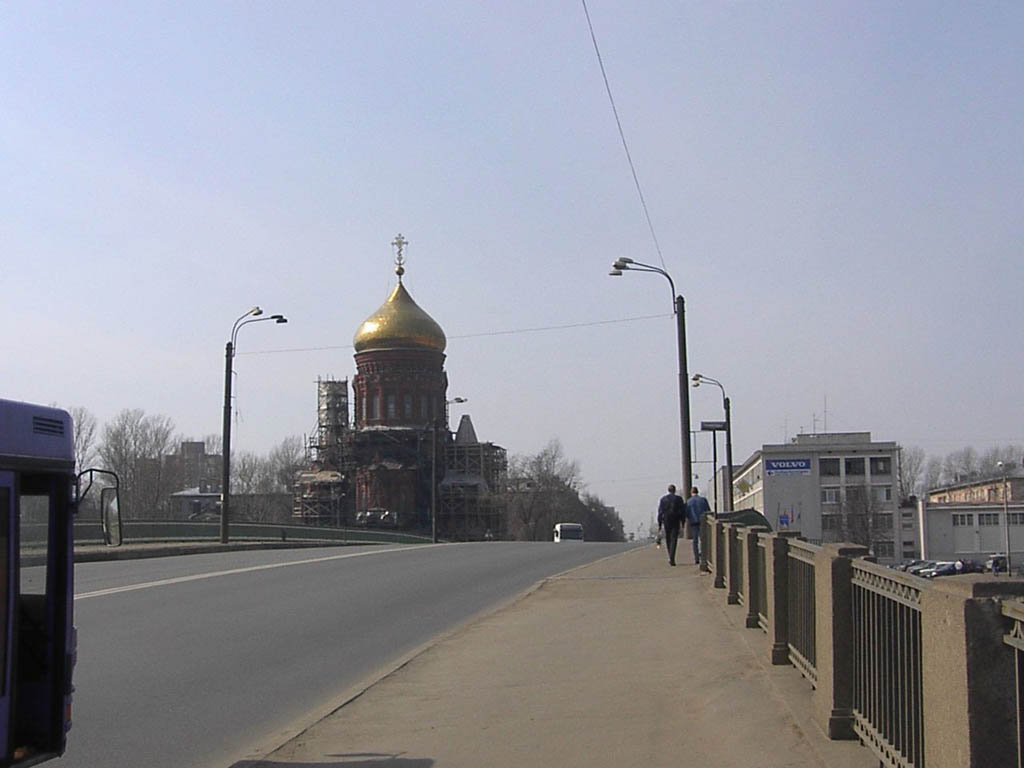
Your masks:
[[[345,451],[348,379],[316,380],[316,429],[306,442],[306,469],[296,474],[292,517],[308,525],[344,522],[349,488]]]

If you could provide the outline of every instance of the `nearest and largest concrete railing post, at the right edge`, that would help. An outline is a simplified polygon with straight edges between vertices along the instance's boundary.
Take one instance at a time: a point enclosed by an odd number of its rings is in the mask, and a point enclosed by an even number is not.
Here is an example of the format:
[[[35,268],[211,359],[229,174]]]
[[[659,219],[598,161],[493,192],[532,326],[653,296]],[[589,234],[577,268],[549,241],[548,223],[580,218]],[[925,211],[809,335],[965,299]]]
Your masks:
[[[1024,581],[936,579],[921,596],[922,708],[929,768],[1017,765],[1013,649],[995,597]]]

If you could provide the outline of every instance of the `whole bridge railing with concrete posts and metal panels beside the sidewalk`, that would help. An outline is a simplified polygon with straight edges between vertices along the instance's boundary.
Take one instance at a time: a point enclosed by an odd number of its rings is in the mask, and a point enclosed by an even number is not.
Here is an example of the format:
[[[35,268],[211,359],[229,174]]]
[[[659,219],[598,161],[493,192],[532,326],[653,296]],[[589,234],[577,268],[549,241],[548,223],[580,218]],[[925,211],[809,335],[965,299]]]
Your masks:
[[[732,582],[726,599],[766,633],[771,663],[811,682],[830,738],[887,768],[1024,768],[1024,581],[925,580],[864,547],[707,523],[715,587]]]

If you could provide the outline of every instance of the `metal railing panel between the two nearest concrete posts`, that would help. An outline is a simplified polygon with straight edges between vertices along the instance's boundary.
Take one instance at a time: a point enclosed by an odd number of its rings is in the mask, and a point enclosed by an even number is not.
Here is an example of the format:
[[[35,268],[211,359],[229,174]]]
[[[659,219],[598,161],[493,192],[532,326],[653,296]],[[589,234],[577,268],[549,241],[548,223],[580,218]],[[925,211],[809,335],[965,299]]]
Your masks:
[[[854,560],[854,730],[891,768],[923,768],[921,590],[927,582]]]

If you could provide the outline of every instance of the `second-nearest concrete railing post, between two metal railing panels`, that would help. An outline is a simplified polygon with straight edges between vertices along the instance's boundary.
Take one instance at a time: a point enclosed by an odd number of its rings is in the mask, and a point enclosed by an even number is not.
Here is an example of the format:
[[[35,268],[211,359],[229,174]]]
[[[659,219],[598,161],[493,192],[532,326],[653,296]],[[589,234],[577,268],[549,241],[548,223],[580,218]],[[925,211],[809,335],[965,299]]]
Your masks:
[[[817,687],[814,718],[828,738],[853,731],[853,558],[867,547],[824,544],[814,557],[814,632]]]

